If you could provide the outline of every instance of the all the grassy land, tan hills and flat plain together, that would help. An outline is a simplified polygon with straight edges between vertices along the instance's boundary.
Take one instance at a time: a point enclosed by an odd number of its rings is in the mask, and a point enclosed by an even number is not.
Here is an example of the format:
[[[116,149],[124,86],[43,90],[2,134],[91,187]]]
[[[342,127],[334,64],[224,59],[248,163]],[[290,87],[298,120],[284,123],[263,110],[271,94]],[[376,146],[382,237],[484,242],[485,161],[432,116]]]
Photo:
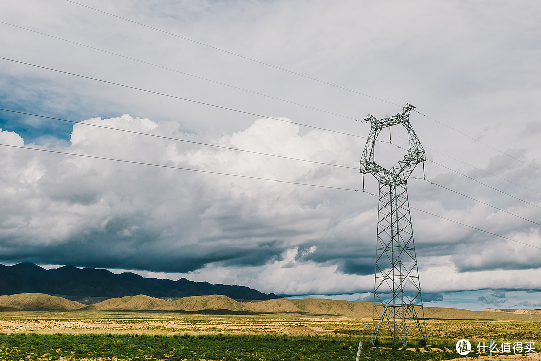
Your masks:
[[[411,325],[406,349],[394,346],[385,328],[379,343],[371,345],[370,307],[363,303],[272,300],[244,304],[201,297],[177,300],[172,310],[172,302],[134,297],[94,307],[69,304],[78,309],[60,311],[55,308],[61,308],[61,300],[32,297],[37,301],[13,297],[5,305],[11,311],[0,312],[2,360],[354,360],[359,342],[364,345],[361,360],[441,360],[459,357],[454,346],[460,339],[470,340],[474,349],[478,342],[494,340],[499,344],[533,342],[541,351],[538,314],[533,315],[534,322],[528,322],[525,314],[426,307],[430,345],[421,343]],[[47,311],[19,310],[28,305]],[[127,311],[128,306],[169,309]],[[539,354],[531,355],[526,359],[537,359]],[[471,356],[479,356],[477,350]]]

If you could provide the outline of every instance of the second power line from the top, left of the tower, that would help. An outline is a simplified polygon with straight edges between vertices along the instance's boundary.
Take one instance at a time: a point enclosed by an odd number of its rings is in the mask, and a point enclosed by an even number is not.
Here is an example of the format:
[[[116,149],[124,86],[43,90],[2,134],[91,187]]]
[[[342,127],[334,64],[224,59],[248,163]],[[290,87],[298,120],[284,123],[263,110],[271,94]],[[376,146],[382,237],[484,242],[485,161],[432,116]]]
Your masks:
[[[233,85],[230,85],[230,84],[227,84],[227,83],[223,83],[223,82],[219,82],[219,81],[216,81],[216,80],[212,80],[212,79],[209,79],[209,78],[206,78],[206,77],[202,77],[202,76],[199,76],[199,75],[194,75],[194,74],[186,73],[185,71],[180,71],[180,70],[177,70],[177,69],[168,68],[168,67],[164,67],[163,65],[150,63],[150,62],[147,62],[147,61],[144,61],[144,60],[140,60],[140,59],[137,59],[137,58],[134,58],[134,57],[130,57],[130,56],[122,55],[122,54],[117,54],[116,52],[113,52],[113,51],[108,51],[108,50],[104,50],[104,49],[100,49],[100,48],[93,47],[93,46],[91,46],[91,45],[86,45],[86,44],[78,43],[78,42],[75,42],[75,41],[67,40],[67,39],[64,39],[64,38],[61,38],[61,37],[58,37],[58,36],[54,36],[54,35],[50,35],[50,34],[45,34],[44,32],[41,32],[41,31],[37,31],[37,30],[32,30],[32,29],[24,28],[24,27],[21,27],[21,26],[19,26],[19,25],[14,25],[14,24],[6,23],[6,22],[4,22],[4,21],[0,21],[0,23],[6,24],[6,25],[10,25],[11,27],[15,27],[15,28],[19,28],[19,29],[24,29],[24,30],[28,30],[28,31],[31,31],[31,32],[35,32],[36,34],[40,34],[40,35],[44,35],[44,36],[49,36],[49,37],[55,38],[55,39],[57,39],[57,40],[62,40],[62,41],[68,42],[68,43],[80,45],[81,47],[85,47],[85,48],[89,48],[89,49],[93,49],[93,50],[102,51],[102,52],[105,52],[105,53],[107,53],[107,54],[111,54],[111,55],[115,55],[115,56],[120,56],[120,57],[122,57],[122,58],[126,58],[126,59],[133,60],[133,61],[136,61],[136,62],[139,62],[139,63],[147,64],[147,65],[151,65],[151,66],[153,66],[153,67],[157,67],[157,68],[161,68],[161,69],[165,69],[165,70],[170,70],[170,71],[175,71],[175,73],[179,73],[179,74],[183,74],[183,75],[188,75],[188,76],[191,76],[191,77],[194,77],[194,78],[197,78],[197,79],[201,79],[201,80],[204,80],[204,81],[212,82],[212,83],[215,83],[215,84],[220,84],[220,85],[222,85],[222,86],[226,86],[226,87],[230,87],[230,88],[234,88],[234,89],[239,89],[239,90],[242,90],[242,91],[247,91],[248,93],[252,93],[252,94],[256,94],[256,95],[260,95],[260,96],[265,96],[265,97],[268,97],[268,98],[270,98],[270,99],[279,100],[279,101],[281,101],[281,102],[286,102],[286,103],[289,103],[289,104],[294,104],[294,105],[299,106],[299,107],[304,107],[304,108],[308,108],[308,109],[312,109],[312,110],[317,110],[317,111],[321,111],[322,113],[331,114],[331,115],[339,116],[339,117],[342,117],[342,118],[345,118],[345,119],[358,121],[358,119],[355,119],[355,118],[353,118],[353,117],[349,117],[349,116],[346,116],[346,115],[341,115],[341,114],[333,113],[332,111],[327,111],[327,110],[323,110],[323,109],[319,109],[319,108],[307,106],[307,105],[304,105],[304,104],[295,103],[295,102],[292,102],[292,101],[289,101],[289,100],[285,100],[285,99],[281,99],[281,98],[278,98],[278,97],[275,97],[275,96],[272,96],[272,95],[263,94],[263,93],[258,93],[257,91],[254,91],[254,90],[249,90],[249,89],[245,89],[245,88],[241,88],[241,87],[236,87],[236,86],[233,86]]]

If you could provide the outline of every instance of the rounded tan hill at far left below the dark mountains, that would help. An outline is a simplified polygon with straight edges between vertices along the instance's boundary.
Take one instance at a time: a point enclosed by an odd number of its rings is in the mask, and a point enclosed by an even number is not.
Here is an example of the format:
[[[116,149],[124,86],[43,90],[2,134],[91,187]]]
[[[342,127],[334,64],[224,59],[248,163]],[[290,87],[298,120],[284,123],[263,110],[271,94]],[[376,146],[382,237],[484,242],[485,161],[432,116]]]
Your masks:
[[[0,296],[0,310],[4,311],[72,311],[85,305],[62,297],[43,293],[18,293]]]

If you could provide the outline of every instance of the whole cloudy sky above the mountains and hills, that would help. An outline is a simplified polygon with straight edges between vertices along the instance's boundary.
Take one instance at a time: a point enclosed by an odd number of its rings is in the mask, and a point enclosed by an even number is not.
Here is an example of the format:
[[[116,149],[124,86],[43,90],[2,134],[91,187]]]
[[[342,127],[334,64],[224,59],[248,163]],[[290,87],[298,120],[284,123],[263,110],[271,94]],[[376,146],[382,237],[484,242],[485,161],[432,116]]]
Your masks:
[[[4,0],[0,263],[372,301],[363,120],[409,103],[425,306],[541,309],[540,17],[535,0]],[[407,149],[388,136],[386,167]]]

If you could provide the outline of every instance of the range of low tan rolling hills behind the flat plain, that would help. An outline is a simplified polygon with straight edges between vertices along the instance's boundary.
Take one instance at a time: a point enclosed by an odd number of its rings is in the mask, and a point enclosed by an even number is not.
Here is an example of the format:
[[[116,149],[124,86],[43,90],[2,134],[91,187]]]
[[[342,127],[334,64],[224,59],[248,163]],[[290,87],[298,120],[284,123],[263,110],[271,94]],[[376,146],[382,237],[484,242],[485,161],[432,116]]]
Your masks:
[[[192,296],[174,301],[144,296],[111,298],[84,305],[48,294],[24,293],[0,296],[0,311],[152,311],[216,314],[298,314],[300,316],[341,316],[351,319],[372,318],[372,303],[328,299],[272,299],[261,302],[239,302],[223,295]],[[526,321],[527,310],[513,312],[469,311],[425,307],[426,319],[483,319]],[[534,312],[532,312],[534,313]],[[535,314],[538,314],[535,312]]]

